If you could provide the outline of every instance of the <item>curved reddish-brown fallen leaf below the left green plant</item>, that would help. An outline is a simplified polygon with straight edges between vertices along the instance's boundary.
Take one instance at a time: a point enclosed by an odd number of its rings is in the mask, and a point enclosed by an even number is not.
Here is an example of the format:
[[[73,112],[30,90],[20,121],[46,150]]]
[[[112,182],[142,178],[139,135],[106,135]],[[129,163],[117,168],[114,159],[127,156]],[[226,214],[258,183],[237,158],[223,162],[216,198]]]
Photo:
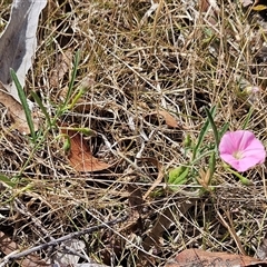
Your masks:
[[[61,129],[61,132],[70,137],[68,159],[73,169],[77,171],[98,171],[110,167],[110,165],[98,160],[91,155],[89,146],[79,132],[67,129]]]

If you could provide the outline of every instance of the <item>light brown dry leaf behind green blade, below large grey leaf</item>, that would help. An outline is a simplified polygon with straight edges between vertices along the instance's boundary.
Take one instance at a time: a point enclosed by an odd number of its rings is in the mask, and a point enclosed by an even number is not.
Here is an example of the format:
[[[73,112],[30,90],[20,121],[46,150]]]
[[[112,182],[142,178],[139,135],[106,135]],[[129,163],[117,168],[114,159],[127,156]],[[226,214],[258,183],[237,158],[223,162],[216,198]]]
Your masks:
[[[30,129],[26,119],[26,113],[21,103],[19,103],[12,96],[10,96],[4,86],[0,82],[0,102],[8,109],[10,116],[12,117],[11,128],[18,131],[29,135]],[[34,118],[32,112],[34,130],[38,130],[38,118]]]

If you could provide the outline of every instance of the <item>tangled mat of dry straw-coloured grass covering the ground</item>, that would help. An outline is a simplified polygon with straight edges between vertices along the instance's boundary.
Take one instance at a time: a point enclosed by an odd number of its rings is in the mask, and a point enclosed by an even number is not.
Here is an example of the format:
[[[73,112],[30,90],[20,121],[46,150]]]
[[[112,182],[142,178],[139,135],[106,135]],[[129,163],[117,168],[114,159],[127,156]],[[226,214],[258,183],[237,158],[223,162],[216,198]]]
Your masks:
[[[4,7],[0,12],[8,18],[10,6]],[[87,142],[95,157],[112,167],[77,172],[57,139],[58,129],[32,149],[28,138],[2,128],[1,172],[17,186],[1,189],[0,230],[28,247],[129,212],[131,222],[85,238],[90,258],[111,266],[164,266],[190,247],[255,255],[266,234],[265,166],[245,174],[254,182],[246,187],[218,159],[215,191],[190,198],[196,181],[171,192],[162,179],[142,200],[160,171],[188,162],[182,141],[187,135],[197,140],[206,121],[204,107],[216,106],[216,126],[229,122],[231,130],[243,128],[253,107],[247,129],[267,145],[264,21],[234,1],[219,7],[214,23],[205,13],[198,16],[195,1],[159,1],[151,16],[147,0],[50,1],[27,91],[38,92],[53,117],[70,80],[68,62],[80,50],[75,88],[88,79],[90,85],[58,122],[98,132]],[[69,59],[65,67],[63,55]],[[240,79],[261,87],[257,99],[241,93]],[[159,110],[180,127],[149,115]],[[2,126],[8,123],[4,117]],[[210,142],[211,132],[205,139]],[[202,160],[195,174],[207,167]],[[154,244],[148,237],[157,222],[165,225]]]

